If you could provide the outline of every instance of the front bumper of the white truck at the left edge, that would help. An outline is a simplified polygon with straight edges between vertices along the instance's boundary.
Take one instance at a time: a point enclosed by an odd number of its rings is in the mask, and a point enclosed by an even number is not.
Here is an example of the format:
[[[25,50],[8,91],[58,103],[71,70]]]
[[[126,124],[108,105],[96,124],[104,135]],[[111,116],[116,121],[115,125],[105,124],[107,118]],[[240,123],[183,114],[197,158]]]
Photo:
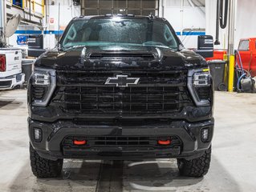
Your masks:
[[[9,90],[14,86],[22,86],[25,82],[25,74],[15,74],[6,78],[0,78],[0,90]]]

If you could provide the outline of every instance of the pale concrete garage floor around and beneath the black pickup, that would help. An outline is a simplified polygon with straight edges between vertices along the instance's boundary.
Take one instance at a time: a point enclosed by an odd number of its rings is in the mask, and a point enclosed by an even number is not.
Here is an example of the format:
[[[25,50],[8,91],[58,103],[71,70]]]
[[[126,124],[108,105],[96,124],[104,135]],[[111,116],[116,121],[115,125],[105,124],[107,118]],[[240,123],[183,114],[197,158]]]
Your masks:
[[[256,191],[256,94],[215,94],[209,173],[181,178],[176,160],[65,160],[63,175],[37,179],[30,171],[26,90],[0,91],[0,191]]]

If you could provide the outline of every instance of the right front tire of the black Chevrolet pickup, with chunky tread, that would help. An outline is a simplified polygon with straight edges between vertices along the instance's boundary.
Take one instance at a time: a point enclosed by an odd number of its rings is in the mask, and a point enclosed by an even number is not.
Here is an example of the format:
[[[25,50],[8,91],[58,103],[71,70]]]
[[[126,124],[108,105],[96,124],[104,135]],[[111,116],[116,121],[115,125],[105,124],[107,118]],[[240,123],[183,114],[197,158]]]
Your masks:
[[[192,160],[186,160],[184,158],[177,159],[177,164],[182,176],[198,178],[207,174],[210,160],[211,147],[209,147],[208,150],[205,150],[205,154],[201,157],[193,158]]]

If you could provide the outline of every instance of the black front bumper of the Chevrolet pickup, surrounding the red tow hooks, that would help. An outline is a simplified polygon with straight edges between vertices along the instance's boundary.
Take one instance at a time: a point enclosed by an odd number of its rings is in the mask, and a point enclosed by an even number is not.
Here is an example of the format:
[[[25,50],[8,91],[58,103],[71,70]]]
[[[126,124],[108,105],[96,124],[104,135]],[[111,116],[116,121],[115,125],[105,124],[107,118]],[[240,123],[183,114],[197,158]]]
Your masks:
[[[72,121],[39,122],[28,118],[30,142],[43,158],[86,158],[86,159],[146,159],[146,158],[195,158],[201,156],[211,145],[214,119],[203,122],[172,121],[139,126],[104,126],[77,124]],[[42,140],[35,141],[34,129],[42,130]],[[207,142],[201,141],[201,130],[209,130]],[[87,146],[83,148],[63,147],[67,136],[175,136],[181,145],[173,147],[143,146]]]

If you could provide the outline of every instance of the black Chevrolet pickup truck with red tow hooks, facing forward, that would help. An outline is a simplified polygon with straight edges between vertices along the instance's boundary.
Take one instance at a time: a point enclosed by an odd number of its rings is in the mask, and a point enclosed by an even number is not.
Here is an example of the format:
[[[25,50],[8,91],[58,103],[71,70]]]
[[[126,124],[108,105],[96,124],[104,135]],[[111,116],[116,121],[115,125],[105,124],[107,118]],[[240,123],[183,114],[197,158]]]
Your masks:
[[[57,177],[63,158],[177,158],[181,175],[209,170],[212,78],[165,18],[72,19],[35,62],[28,110],[38,178]]]

